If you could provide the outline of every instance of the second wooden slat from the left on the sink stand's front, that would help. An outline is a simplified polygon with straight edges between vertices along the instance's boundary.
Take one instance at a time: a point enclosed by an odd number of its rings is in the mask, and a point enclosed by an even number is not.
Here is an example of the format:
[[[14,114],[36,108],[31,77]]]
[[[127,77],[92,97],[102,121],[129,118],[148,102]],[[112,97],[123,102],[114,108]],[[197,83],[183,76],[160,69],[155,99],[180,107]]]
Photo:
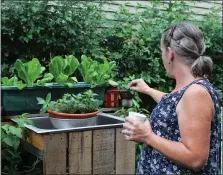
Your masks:
[[[69,173],[92,173],[92,131],[69,134]]]

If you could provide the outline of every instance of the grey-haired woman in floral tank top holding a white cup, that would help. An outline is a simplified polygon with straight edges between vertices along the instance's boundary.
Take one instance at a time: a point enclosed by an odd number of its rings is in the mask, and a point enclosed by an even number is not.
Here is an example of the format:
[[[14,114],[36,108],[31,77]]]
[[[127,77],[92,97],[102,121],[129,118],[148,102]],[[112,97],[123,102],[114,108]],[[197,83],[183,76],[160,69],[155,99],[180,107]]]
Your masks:
[[[142,79],[130,88],[150,95],[158,105],[151,120],[127,117],[123,134],[144,143],[137,174],[217,174],[220,148],[220,108],[207,77],[212,60],[203,56],[203,34],[192,24],[166,29],[161,39],[167,74],[176,80],[171,93],[149,87]]]

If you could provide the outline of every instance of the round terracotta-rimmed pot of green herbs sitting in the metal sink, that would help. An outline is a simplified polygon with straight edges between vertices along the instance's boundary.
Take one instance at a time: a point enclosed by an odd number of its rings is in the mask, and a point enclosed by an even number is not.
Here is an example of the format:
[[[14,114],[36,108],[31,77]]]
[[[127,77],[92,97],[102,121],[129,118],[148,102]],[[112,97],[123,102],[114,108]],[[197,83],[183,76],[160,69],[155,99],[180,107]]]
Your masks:
[[[93,124],[92,117],[99,113],[102,101],[96,99],[97,94],[91,90],[83,93],[64,94],[57,101],[51,101],[51,94],[44,100],[37,97],[38,104],[42,105],[41,112],[48,112],[52,124],[56,128],[67,128],[73,126],[86,126]]]

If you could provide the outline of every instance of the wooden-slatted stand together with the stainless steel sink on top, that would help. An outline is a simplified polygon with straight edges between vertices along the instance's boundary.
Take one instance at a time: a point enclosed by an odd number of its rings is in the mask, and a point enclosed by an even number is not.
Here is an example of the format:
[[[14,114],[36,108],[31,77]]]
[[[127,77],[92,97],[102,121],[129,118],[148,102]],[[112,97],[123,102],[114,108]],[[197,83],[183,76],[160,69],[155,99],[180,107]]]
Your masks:
[[[25,148],[43,159],[43,174],[135,174],[135,143],[124,119],[105,113],[86,119],[29,118]],[[15,121],[14,119],[12,119]]]

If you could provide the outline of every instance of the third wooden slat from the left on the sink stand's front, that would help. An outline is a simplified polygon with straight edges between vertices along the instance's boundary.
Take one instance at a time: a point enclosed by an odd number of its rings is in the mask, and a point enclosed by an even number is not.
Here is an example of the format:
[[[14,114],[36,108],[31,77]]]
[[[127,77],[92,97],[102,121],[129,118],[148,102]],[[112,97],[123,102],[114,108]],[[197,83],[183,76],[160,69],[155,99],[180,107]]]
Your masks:
[[[93,131],[93,174],[114,174],[115,129]]]

